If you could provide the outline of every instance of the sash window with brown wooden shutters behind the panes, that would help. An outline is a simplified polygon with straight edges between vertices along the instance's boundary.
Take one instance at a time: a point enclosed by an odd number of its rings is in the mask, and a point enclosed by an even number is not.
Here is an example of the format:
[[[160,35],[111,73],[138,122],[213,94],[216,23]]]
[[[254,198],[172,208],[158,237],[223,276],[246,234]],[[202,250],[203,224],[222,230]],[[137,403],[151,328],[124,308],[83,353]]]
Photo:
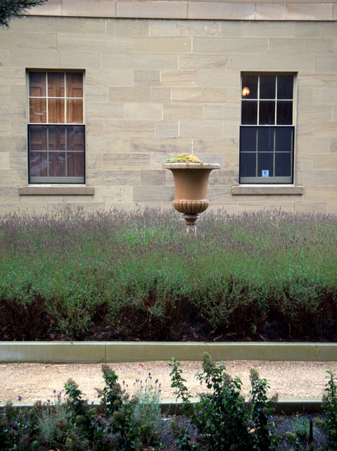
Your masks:
[[[84,183],[83,73],[29,72],[30,183]]]

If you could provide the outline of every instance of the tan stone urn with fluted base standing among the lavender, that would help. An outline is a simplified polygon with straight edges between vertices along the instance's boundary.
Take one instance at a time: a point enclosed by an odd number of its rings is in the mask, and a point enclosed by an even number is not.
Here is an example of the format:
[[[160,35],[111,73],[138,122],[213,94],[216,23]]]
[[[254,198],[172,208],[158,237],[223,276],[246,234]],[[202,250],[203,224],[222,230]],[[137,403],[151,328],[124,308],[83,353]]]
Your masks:
[[[170,169],[174,178],[174,208],[182,213],[187,232],[196,232],[199,214],[208,209],[207,187],[210,172],[220,169],[218,163],[182,163],[163,164],[163,169]]]

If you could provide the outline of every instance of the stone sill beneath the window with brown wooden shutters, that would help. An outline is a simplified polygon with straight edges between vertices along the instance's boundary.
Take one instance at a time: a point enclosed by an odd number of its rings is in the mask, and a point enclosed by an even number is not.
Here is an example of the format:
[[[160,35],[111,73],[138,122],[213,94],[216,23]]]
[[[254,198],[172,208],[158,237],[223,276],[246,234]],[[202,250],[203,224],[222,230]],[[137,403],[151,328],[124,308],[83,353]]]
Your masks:
[[[21,196],[93,196],[94,187],[87,185],[27,185],[19,187]]]

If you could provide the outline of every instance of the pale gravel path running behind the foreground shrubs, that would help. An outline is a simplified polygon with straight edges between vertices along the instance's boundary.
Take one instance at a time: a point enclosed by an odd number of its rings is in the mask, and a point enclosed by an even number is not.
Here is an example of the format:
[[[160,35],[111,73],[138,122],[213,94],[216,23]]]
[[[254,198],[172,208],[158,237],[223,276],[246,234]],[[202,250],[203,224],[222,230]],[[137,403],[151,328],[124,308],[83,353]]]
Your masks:
[[[243,393],[250,389],[249,371],[255,368],[260,377],[271,385],[269,394],[279,393],[279,397],[321,398],[326,384],[326,371],[337,371],[337,362],[225,362],[231,376],[238,376],[243,382]],[[141,362],[110,364],[117,373],[120,383],[125,381],[132,393],[136,379],[145,381],[151,373],[152,381],[158,379],[163,399],[173,398],[170,387],[171,367],[168,362]],[[201,362],[181,362],[183,378],[193,394],[201,391],[195,378],[201,371]],[[103,387],[101,364],[0,364],[0,402],[23,402],[53,400],[53,390],[63,390],[64,383],[72,378],[89,400],[96,400],[95,388]]]

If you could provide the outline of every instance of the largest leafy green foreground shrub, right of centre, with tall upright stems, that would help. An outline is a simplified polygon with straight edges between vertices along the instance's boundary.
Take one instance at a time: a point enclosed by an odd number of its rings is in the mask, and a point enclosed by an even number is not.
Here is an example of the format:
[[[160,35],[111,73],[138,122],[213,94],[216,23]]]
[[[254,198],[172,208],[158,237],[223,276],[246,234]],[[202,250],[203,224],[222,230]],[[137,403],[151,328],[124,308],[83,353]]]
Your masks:
[[[197,375],[211,393],[201,393],[200,401],[191,402],[179,362],[172,362],[172,387],[175,395],[181,397],[186,416],[191,418],[191,428],[196,438],[191,438],[189,431],[179,428],[172,422],[172,429],[177,435],[177,445],[184,451],[190,450],[276,450],[272,413],[274,401],[267,399],[269,385],[252,370],[250,382],[250,401],[248,404],[241,395],[241,381],[232,379],[227,374],[224,364],[217,366],[209,354],[203,354],[203,373]],[[193,434],[192,434],[193,435]]]

